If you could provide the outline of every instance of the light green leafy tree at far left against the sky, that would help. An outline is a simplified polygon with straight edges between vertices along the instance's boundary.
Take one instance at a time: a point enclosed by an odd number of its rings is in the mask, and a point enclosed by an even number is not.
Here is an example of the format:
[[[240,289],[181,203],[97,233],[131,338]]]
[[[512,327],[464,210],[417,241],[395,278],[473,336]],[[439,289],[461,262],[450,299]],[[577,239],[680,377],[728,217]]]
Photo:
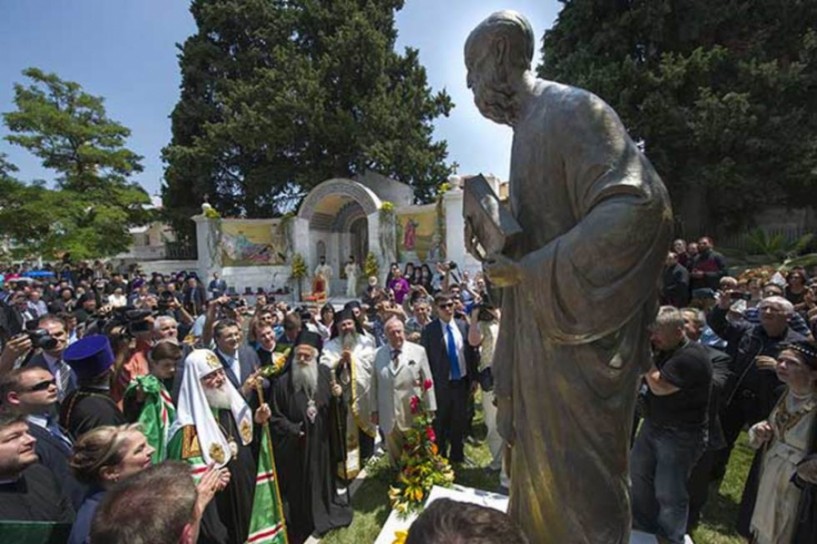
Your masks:
[[[55,189],[11,177],[2,160],[0,222],[20,252],[75,258],[125,251],[128,228],[150,218],[147,193],[128,178],[141,157],[124,147],[130,131],[108,119],[102,99],[74,82],[36,68],[32,84],[14,85],[17,110],[3,114],[6,139],[42,159],[57,174]]]

